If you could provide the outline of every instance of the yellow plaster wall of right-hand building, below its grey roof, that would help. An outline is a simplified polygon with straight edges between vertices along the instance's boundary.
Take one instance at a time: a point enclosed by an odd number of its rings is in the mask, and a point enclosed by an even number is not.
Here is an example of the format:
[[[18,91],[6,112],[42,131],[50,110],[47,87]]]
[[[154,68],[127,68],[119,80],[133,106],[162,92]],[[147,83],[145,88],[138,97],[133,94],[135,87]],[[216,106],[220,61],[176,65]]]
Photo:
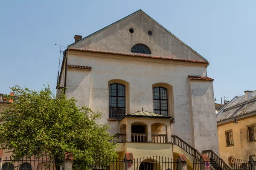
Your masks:
[[[236,159],[249,160],[249,156],[256,155],[256,141],[248,142],[247,140],[247,125],[255,123],[256,116],[238,120],[237,125],[230,122],[218,126],[220,156],[224,161],[229,162],[228,159],[231,156]],[[233,131],[234,146],[227,147],[225,131],[231,129]]]

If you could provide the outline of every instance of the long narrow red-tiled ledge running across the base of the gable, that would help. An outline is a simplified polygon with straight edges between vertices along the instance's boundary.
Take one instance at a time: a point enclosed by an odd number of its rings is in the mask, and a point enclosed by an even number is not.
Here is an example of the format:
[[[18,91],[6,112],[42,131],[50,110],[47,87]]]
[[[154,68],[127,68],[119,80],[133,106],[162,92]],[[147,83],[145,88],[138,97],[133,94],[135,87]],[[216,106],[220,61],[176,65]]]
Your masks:
[[[74,51],[87,51],[87,52],[93,52],[93,53],[103,53],[103,54],[113,54],[113,55],[143,57],[143,58],[154,58],[154,59],[167,59],[167,60],[173,60],[173,61],[198,62],[198,63],[209,64],[209,62],[207,62],[207,61],[198,61],[198,60],[192,60],[192,59],[177,59],[177,58],[169,58],[169,57],[149,56],[149,55],[143,55],[143,54],[116,53],[116,52],[110,52],[110,51],[87,50],[87,49],[81,49],[81,48],[68,48],[68,49],[74,50]]]

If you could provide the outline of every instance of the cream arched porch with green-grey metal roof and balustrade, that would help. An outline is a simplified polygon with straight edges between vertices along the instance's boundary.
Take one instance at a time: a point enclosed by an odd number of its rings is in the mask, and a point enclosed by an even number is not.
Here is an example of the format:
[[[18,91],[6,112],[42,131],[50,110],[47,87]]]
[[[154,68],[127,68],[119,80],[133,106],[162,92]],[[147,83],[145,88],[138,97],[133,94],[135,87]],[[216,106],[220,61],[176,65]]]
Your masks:
[[[120,133],[126,133],[126,142],[171,143],[171,122],[173,120],[172,116],[137,111],[126,114],[119,120]],[[141,140],[137,139],[138,136]]]

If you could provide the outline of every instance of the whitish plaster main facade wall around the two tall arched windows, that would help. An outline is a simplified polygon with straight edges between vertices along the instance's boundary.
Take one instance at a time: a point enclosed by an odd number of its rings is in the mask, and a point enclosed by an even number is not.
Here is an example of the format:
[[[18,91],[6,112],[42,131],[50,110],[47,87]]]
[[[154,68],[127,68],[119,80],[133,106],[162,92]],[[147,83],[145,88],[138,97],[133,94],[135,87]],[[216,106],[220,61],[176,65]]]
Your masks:
[[[90,71],[89,92],[87,88],[89,73],[68,69],[67,86],[71,88],[67,90],[67,96],[79,98],[79,105],[89,106],[93,111],[102,111],[104,116],[99,123],[107,123],[111,127],[112,134],[120,133],[120,129],[118,122],[108,120],[108,82],[112,79],[129,82],[129,113],[141,111],[142,108],[144,111],[153,112],[152,85],[163,82],[173,86],[174,115],[169,115],[175,118],[172,134],[194,145],[188,75],[206,76],[207,65],[78,51],[69,51],[68,56],[68,65],[90,66],[92,70]],[[204,83],[207,82],[202,82]],[[209,88],[209,93],[213,99],[212,88]],[[214,107],[214,101],[209,102],[212,102]],[[194,104],[201,108],[208,105],[198,102]],[[204,108],[204,110],[207,109]],[[215,117],[211,119],[211,122],[215,122]],[[209,128],[209,130],[215,133],[214,128]]]

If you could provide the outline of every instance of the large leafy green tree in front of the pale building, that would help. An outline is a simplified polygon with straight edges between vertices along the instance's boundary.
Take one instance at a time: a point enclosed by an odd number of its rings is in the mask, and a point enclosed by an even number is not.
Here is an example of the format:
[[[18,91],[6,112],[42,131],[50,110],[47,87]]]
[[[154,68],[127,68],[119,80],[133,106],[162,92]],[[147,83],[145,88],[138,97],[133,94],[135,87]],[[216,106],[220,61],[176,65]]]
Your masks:
[[[11,89],[17,98],[0,115],[0,148],[12,151],[16,159],[47,154],[63,160],[65,151],[87,163],[94,157],[116,156],[109,127],[98,123],[101,112],[78,108],[76,99],[64,94],[55,98],[49,85],[41,91]]]

